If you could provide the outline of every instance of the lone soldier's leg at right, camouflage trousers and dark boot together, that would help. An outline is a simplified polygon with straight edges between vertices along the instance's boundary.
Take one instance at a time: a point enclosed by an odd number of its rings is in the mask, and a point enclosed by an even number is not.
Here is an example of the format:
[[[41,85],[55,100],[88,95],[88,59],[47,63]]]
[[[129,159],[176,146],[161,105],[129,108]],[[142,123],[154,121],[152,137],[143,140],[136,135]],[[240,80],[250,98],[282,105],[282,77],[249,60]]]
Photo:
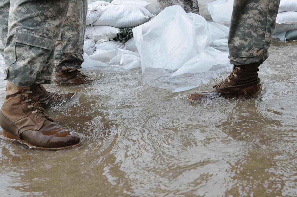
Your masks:
[[[280,0],[235,0],[228,38],[233,71],[204,93],[189,95],[191,100],[219,94],[253,96],[260,89],[258,67],[268,58]]]

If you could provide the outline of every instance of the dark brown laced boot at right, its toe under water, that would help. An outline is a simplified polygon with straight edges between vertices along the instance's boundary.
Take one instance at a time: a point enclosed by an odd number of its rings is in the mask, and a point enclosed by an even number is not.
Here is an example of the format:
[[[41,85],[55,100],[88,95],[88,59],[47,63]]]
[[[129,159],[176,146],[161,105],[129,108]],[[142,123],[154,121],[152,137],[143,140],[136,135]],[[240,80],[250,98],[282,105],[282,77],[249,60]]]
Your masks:
[[[258,78],[258,67],[260,64],[247,64],[244,66],[233,66],[233,71],[224,81],[214,85],[208,92],[200,92],[188,95],[189,100],[199,101],[212,99],[218,96],[233,98],[236,96],[251,97],[260,90],[260,79]]]

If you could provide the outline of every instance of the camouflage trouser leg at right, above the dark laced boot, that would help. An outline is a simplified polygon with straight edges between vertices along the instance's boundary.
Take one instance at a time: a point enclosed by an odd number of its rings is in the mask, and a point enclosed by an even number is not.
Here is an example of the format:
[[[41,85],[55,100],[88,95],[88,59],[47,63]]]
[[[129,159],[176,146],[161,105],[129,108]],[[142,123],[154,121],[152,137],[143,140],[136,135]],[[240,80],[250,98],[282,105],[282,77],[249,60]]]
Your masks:
[[[231,64],[262,64],[268,58],[280,0],[234,0],[228,37]]]

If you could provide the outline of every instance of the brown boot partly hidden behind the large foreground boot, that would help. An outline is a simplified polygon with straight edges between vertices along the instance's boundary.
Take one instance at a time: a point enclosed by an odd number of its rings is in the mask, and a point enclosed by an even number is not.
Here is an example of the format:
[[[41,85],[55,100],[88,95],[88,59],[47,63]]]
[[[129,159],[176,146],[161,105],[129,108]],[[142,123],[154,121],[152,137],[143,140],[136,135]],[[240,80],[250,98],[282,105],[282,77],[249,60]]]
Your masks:
[[[48,108],[61,101],[68,100],[75,94],[75,93],[68,93],[68,94],[50,93],[45,90],[42,84],[36,84],[36,88],[34,88],[34,90],[37,90],[38,92],[40,107],[42,108]]]

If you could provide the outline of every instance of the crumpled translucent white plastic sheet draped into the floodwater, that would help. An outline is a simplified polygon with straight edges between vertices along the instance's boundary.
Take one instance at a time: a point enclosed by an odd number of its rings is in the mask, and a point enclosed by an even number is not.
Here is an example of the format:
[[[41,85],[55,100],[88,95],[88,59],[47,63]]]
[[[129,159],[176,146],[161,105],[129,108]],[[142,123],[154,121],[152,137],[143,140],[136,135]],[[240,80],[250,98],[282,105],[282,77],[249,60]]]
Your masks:
[[[98,66],[141,68],[143,82],[173,92],[185,91],[203,85],[230,66],[228,32],[226,26],[170,6],[133,28],[138,53],[97,50],[93,55],[85,54],[82,67],[94,66],[93,60],[100,61]]]

